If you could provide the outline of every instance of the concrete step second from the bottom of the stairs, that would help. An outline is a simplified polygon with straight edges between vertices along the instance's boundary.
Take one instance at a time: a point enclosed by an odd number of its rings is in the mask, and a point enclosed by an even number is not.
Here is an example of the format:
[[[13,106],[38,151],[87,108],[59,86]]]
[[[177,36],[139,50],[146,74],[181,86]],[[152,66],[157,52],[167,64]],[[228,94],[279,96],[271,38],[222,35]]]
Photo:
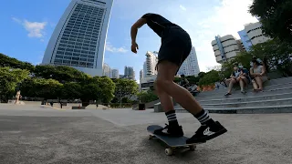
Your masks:
[[[292,105],[292,97],[282,99],[268,99],[262,101],[232,102],[219,104],[203,104],[203,108],[245,108]]]

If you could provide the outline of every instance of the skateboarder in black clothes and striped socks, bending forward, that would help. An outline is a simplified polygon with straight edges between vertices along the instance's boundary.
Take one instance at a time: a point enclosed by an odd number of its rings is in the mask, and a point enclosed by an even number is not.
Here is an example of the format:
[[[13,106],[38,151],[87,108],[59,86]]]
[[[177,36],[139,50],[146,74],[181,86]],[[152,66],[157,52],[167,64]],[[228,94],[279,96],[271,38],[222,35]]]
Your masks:
[[[193,137],[186,141],[187,144],[206,141],[224,134],[227,130],[208,115],[192,94],[173,82],[173,78],[183,61],[191,52],[192,41],[188,33],[181,26],[173,24],[162,15],[151,13],[142,15],[130,29],[131,51],[135,54],[139,49],[136,43],[138,29],[145,24],[162,38],[157,64],[158,75],[154,87],[161,100],[169,125],[156,131],[156,133],[177,137],[183,136],[183,128],[179,125],[173,108],[173,97],[201,123],[201,127],[197,129]]]

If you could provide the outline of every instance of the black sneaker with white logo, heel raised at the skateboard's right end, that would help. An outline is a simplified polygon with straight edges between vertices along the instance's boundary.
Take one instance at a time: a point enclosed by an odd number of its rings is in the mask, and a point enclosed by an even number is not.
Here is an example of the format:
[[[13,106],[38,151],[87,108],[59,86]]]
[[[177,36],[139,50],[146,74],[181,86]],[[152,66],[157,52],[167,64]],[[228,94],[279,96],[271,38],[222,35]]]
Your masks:
[[[202,125],[193,135],[192,138],[186,140],[187,144],[190,143],[199,143],[205,142],[212,138],[216,138],[227,132],[227,129],[224,128],[218,121],[215,122],[212,126]]]

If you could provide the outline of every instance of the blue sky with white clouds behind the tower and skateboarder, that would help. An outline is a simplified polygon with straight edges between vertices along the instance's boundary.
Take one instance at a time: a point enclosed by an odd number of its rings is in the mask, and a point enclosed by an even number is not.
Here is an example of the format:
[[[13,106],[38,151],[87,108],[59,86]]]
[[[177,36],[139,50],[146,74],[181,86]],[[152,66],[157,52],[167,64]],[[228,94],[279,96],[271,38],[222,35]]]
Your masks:
[[[70,0],[2,0],[0,53],[41,63],[58,20]],[[161,38],[145,25],[138,31],[137,54],[130,51],[130,26],[146,13],[160,14],[182,26],[191,36],[201,71],[218,66],[211,46],[214,36],[233,35],[256,22],[248,13],[252,0],[114,0],[104,62],[117,68],[134,67],[136,80],[147,51],[159,51]]]

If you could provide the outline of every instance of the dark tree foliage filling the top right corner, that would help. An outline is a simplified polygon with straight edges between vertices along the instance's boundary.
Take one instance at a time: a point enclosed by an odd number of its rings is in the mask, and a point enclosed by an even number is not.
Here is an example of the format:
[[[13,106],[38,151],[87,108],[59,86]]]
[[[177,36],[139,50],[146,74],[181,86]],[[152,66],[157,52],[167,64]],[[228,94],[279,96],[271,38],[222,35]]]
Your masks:
[[[292,43],[291,0],[254,0],[249,12],[260,18],[266,36]]]

